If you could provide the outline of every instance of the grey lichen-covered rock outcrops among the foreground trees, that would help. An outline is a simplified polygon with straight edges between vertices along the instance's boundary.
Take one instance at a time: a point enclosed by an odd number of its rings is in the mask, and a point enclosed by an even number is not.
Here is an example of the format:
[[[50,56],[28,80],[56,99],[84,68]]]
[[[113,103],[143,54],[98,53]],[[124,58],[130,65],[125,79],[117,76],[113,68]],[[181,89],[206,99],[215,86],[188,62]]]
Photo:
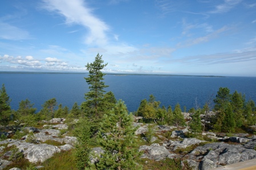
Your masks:
[[[76,141],[74,136],[60,135],[62,129],[67,125],[63,119],[52,119],[54,125],[45,125],[42,129],[26,127],[33,132],[33,142],[27,142],[29,135],[23,136],[20,140],[6,139],[0,142],[0,169],[11,163],[9,157],[11,151],[6,147],[16,146],[24,157],[31,163],[43,162],[57,152],[71,150]],[[147,124],[134,122],[138,126],[136,135],[143,136],[147,131]],[[143,152],[142,158],[163,160],[166,158],[180,158],[187,162],[193,169],[207,170],[224,165],[239,163],[256,158],[256,136],[249,134],[216,134],[214,132],[203,132],[194,135],[194,138],[187,138],[189,130],[175,126],[155,126],[155,135],[151,144],[139,146]],[[12,131],[2,132],[11,135]],[[145,139],[145,138],[144,138]],[[203,140],[207,139],[207,140]],[[55,141],[62,145],[54,146],[46,144],[46,141]],[[94,148],[95,153],[103,152],[101,148]],[[92,161],[95,161],[92,159]],[[38,167],[40,168],[40,167]],[[12,168],[14,170],[15,168]],[[16,168],[18,170],[18,168]]]

